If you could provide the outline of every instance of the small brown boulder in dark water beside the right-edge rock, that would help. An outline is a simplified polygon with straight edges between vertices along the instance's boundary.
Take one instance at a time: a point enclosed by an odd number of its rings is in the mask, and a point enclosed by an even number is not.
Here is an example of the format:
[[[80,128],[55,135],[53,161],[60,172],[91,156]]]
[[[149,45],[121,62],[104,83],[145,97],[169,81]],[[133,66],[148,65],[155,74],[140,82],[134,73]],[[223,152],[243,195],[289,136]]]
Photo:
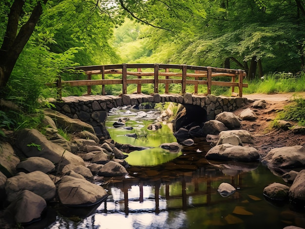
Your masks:
[[[288,192],[288,186],[280,183],[272,183],[264,189],[263,193],[271,200],[285,200],[288,198]]]

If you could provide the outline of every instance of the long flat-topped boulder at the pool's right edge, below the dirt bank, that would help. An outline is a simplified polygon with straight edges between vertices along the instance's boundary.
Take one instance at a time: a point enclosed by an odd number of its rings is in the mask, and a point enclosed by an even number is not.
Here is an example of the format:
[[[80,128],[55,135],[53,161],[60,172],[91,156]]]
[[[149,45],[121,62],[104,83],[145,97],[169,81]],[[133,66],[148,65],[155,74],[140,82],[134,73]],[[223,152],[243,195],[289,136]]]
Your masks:
[[[255,161],[260,155],[253,147],[225,143],[211,148],[205,157],[211,160]]]

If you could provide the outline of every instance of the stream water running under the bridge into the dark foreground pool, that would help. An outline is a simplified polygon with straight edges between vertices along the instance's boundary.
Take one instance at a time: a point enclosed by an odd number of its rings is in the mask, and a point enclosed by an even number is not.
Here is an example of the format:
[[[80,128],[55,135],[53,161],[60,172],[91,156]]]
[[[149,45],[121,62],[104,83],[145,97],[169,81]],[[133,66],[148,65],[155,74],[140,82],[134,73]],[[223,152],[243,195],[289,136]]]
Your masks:
[[[137,110],[138,111],[138,110]],[[135,112],[137,112],[135,111]],[[109,197],[93,209],[64,209],[52,216],[48,229],[283,229],[305,227],[304,213],[294,211],[288,202],[275,203],[263,196],[272,182],[285,184],[275,171],[260,162],[237,163],[207,161],[210,146],[196,139],[192,146],[176,152],[159,147],[174,142],[171,128],[148,131],[148,138],[127,137],[132,131],[114,128],[120,117],[129,116],[126,125],[137,129],[147,125],[145,119],[117,111],[106,122],[111,137],[120,143],[147,147],[133,151],[125,160],[130,174],[103,187]],[[146,131],[146,130],[145,130]],[[144,132],[145,132],[144,131]],[[218,186],[232,184],[237,191],[222,197]],[[49,211],[52,212],[52,211]],[[69,217],[67,217],[69,216]],[[73,221],[74,220],[74,221]]]

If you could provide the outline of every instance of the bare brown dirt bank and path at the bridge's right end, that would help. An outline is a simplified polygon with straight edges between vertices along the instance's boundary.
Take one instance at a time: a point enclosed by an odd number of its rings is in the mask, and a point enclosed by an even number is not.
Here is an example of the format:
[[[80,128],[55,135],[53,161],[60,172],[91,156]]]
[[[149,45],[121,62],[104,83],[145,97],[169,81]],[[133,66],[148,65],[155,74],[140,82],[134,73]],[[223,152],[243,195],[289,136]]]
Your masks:
[[[243,97],[248,100],[264,99],[267,102],[266,108],[253,108],[251,109],[258,116],[255,121],[242,121],[241,129],[248,130],[253,137],[252,143],[249,145],[256,148],[262,156],[265,156],[272,148],[279,148],[283,146],[302,145],[305,147],[305,135],[294,134],[291,129],[275,129],[271,127],[271,123],[276,119],[278,112],[283,110],[293,98],[305,98],[305,92],[300,93],[285,93],[285,94],[249,94]],[[249,104],[242,109],[234,111],[234,114],[239,115],[244,108],[250,107]],[[295,122],[289,122],[296,125]]]

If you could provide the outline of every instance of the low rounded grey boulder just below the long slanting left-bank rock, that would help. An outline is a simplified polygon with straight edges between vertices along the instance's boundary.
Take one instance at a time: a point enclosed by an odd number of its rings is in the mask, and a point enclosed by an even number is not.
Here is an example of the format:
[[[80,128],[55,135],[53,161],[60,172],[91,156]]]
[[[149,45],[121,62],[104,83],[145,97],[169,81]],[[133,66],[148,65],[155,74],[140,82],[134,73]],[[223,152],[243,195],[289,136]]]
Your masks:
[[[16,166],[17,171],[27,173],[41,171],[45,174],[53,172],[55,165],[48,159],[40,157],[27,158]]]

